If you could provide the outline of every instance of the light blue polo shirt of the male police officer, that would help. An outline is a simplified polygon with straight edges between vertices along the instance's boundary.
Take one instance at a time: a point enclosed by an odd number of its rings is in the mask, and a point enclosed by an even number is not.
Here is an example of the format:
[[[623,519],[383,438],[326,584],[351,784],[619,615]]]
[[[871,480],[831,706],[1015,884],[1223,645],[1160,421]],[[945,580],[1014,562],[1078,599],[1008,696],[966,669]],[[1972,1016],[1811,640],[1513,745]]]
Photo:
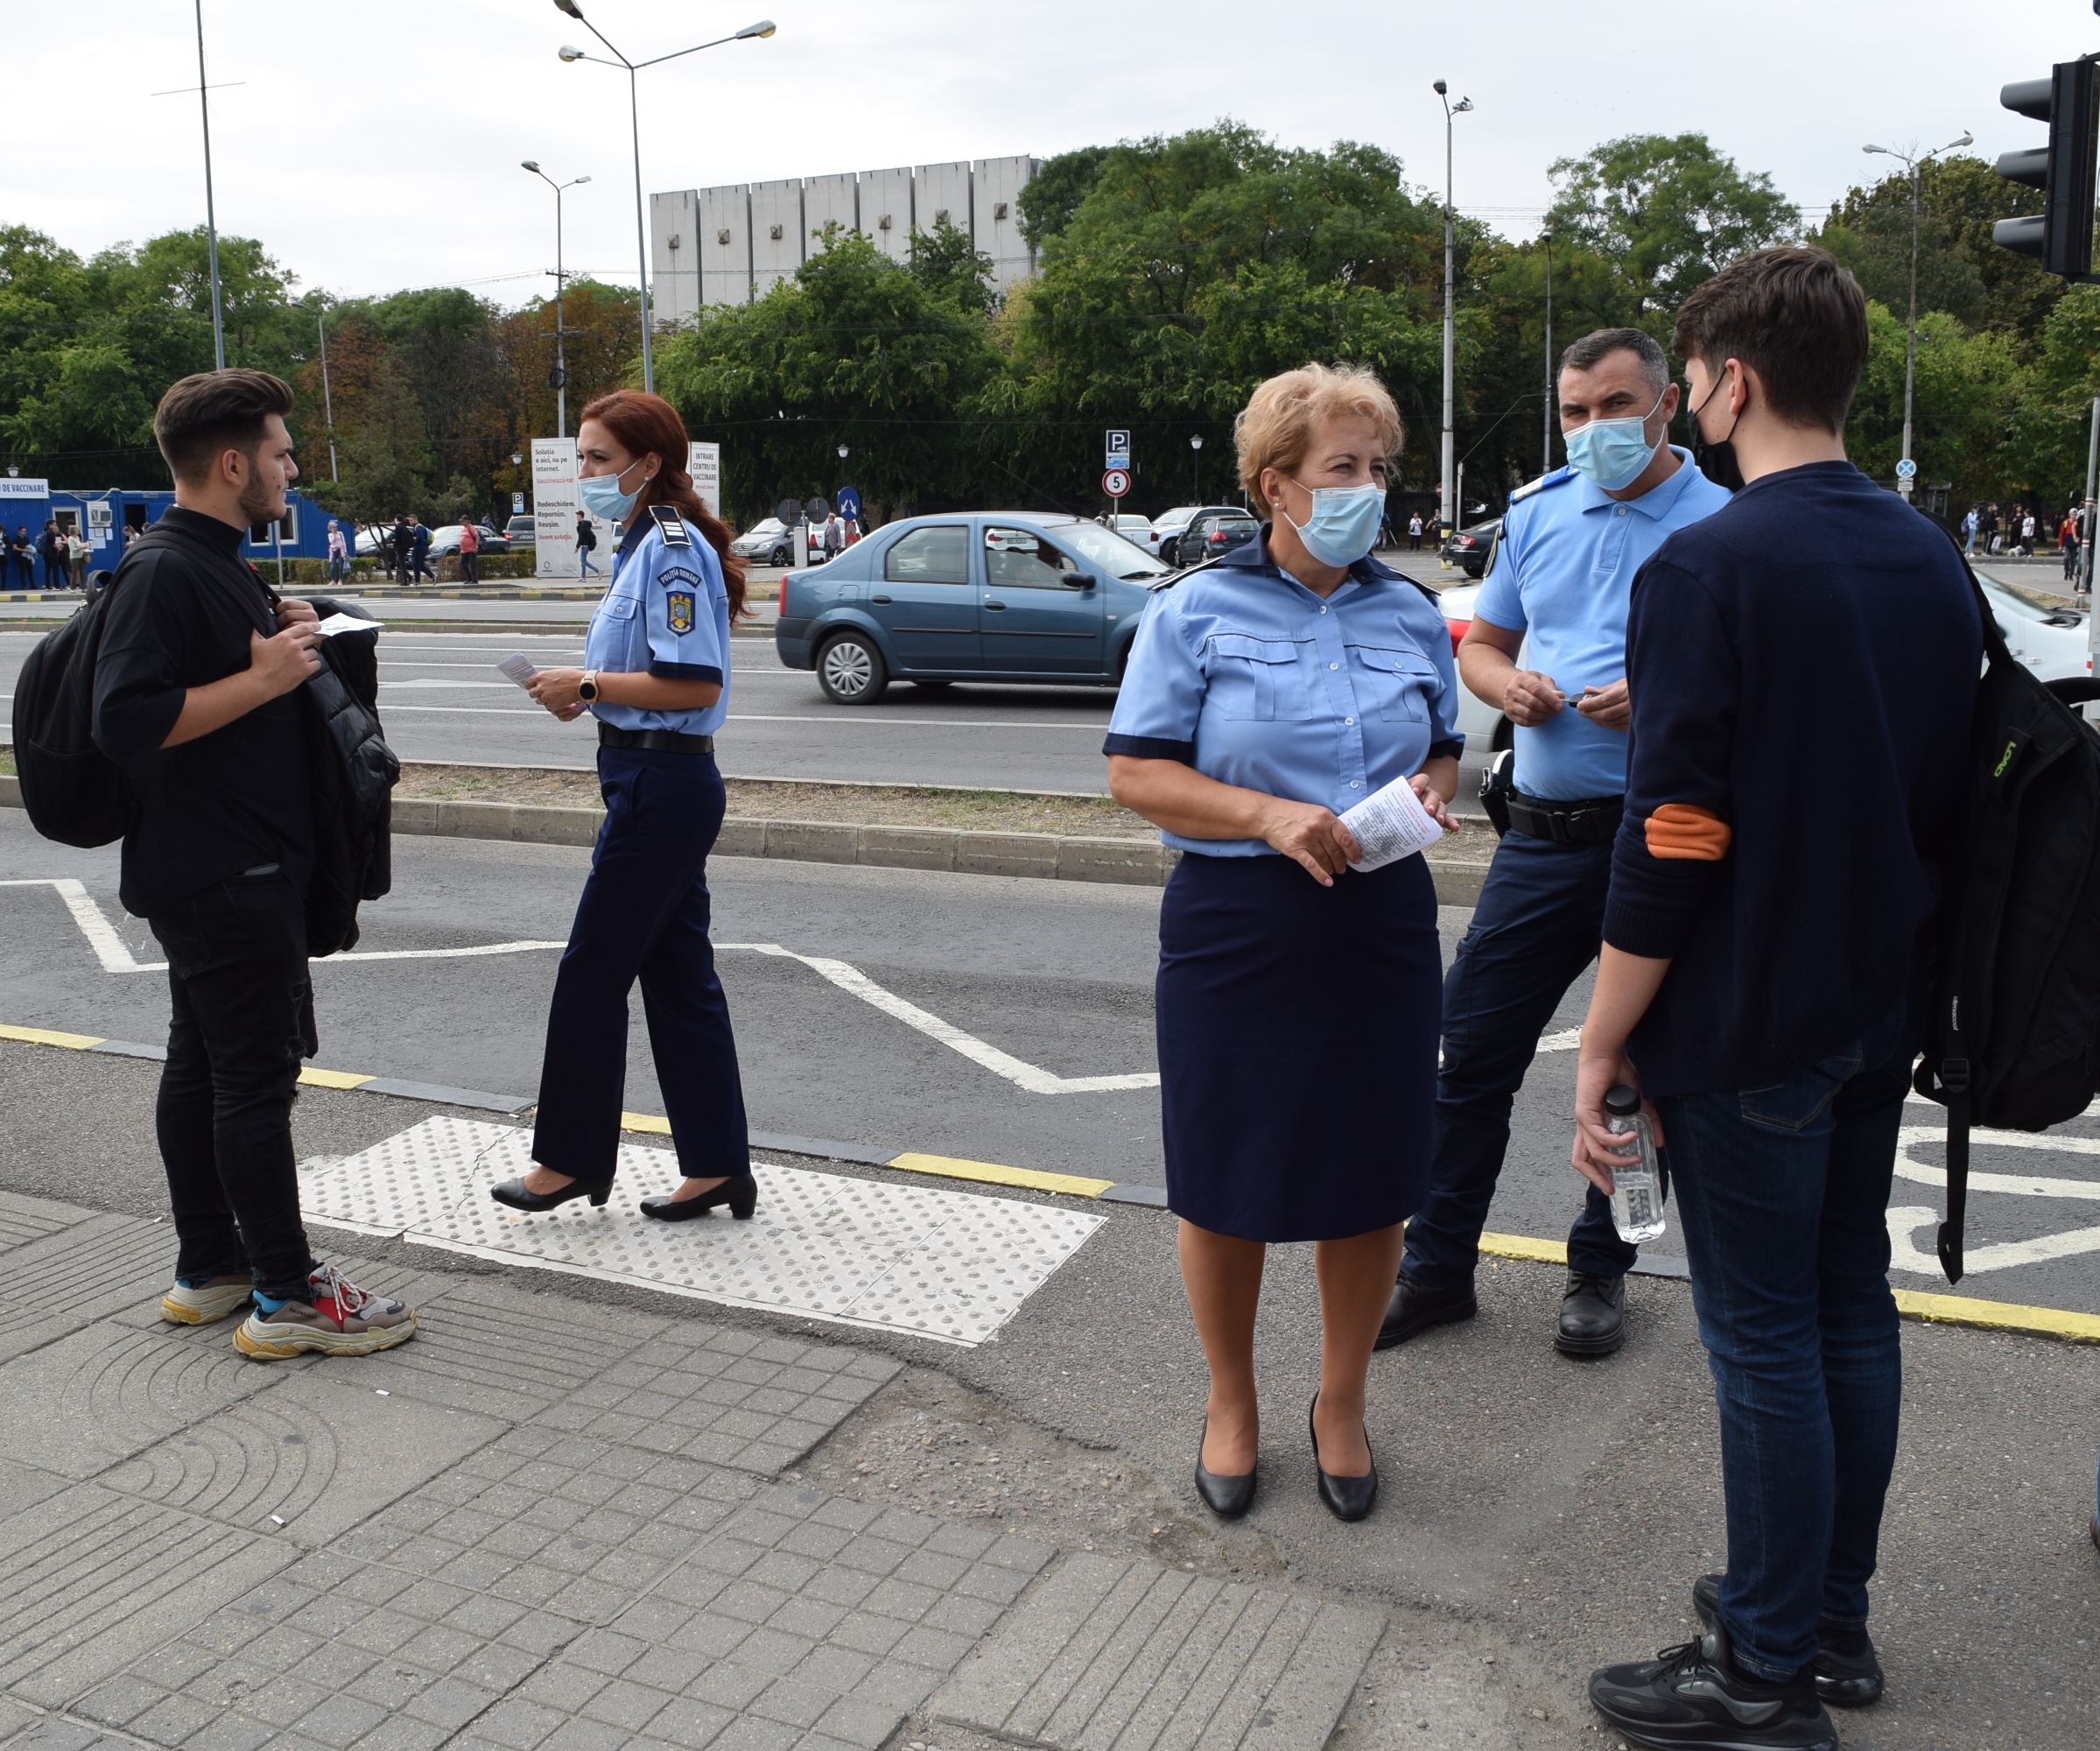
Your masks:
[[[1525,796],[1592,798],[1625,792],[1625,731],[1592,724],[1575,701],[1586,687],[1625,678],[1625,611],[1634,573],[1678,529],[1712,516],[1728,489],[1670,447],[1674,472],[1640,498],[1615,500],[1588,474],[1556,468],[1520,487],[1472,611],[1527,634],[1525,668],[1567,693],[1537,729],[1516,726],[1516,787]]]

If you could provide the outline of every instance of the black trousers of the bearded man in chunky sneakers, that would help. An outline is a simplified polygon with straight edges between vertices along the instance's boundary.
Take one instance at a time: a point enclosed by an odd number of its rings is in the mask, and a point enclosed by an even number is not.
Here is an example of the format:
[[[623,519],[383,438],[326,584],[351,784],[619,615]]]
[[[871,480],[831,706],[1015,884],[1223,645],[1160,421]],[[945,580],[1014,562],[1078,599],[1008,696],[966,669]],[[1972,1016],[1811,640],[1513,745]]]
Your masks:
[[[178,1245],[176,1277],[254,1272],[307,1295],[292,1096],[319,1050],[307,974],[307,903],[284,875],[206,888],[149,920],[168,951],[168,1064],[153,1113]]]

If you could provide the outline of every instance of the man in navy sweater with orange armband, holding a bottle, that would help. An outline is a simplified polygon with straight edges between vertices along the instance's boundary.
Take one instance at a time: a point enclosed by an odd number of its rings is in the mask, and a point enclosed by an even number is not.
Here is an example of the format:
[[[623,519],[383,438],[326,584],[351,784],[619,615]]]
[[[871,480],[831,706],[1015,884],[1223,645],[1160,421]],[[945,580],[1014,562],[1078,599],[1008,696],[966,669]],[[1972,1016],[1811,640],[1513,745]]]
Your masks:
[[[1760,250],[1678,313],[1699,439],[1745,487],[1634,579],[1625,817],[1583,1022],[1575,1165],[1604,1094],[1653,1102],[1720,1409],[1728,1568],[1707,1633],[1604,1667],[1646,1745],[1835,1745],[1896,1455],[1884,1209],[1968,798],[1982,626],[1953,542],[1844,451],[1867,304]]]

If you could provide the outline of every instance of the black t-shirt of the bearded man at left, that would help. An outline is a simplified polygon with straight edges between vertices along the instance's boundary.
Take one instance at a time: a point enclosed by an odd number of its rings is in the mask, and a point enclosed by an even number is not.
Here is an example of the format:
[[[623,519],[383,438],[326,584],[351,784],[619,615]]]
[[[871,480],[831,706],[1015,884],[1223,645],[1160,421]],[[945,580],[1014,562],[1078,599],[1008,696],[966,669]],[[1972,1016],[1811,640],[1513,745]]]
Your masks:
[[[313,813],[298,693],[286,693],[210,735],[162,747],[183,695],[248,668],[248,634],[275,615],[262,579],[242,563],[242,531],[174,506],[164,521],[225,554],[210,565],[187,546],[128,552],[94,666],[94,745],[132,779],[118,894],[139,917],[275,863],[304,892]]]

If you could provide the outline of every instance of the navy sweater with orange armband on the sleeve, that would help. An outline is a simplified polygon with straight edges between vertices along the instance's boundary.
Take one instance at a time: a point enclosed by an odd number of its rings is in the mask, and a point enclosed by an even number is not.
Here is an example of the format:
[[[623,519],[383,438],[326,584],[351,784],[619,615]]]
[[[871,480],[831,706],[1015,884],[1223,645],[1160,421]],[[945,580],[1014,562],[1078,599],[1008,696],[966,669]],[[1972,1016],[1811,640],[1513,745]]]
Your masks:
[[[1896,1004],[1980,666],[1947,535],[1850,462],[1751,481],[1640,569],[1604,941],[1672,962],[1648,1094],[1768,1088]]]

